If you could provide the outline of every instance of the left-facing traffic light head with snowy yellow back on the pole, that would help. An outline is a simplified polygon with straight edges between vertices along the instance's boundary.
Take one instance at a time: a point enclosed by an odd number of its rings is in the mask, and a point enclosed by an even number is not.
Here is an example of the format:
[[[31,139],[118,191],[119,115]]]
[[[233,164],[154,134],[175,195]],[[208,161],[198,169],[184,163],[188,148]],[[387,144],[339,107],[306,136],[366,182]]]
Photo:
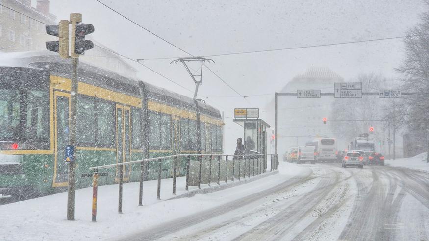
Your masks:
[[[46,25],[46,33],[58,37],[57,41],[47,41],[46,49],[59,53],[62,58],[68,58],[69,21],[61,20],[58,25]]]

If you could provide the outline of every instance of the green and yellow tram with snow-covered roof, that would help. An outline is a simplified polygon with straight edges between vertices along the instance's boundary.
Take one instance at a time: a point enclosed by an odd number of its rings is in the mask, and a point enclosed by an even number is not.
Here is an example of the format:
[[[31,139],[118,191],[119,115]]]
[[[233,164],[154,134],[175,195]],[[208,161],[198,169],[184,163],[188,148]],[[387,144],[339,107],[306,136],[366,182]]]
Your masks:
[[[0,67],[0,194],[55,193],[67,187],[64,148],[69,143],[71,65],[55,55],[33,53],[3,60]],[[147,157],[222,153],[219,111],[201,101],[86,64],[78,70],[76,185],[91,185],[89,168]],[[198,109],[197,109],[198,108]],[[199,115],[197,115],[200,113]],[[163,163],[165,177],[185,174]],[[154,179],[155,166],[147,168]],[[83,174],[83,175],[82,175]],[[100,184],[113,184],[107,170]],[[127,166],[125,181],[140,168]]]

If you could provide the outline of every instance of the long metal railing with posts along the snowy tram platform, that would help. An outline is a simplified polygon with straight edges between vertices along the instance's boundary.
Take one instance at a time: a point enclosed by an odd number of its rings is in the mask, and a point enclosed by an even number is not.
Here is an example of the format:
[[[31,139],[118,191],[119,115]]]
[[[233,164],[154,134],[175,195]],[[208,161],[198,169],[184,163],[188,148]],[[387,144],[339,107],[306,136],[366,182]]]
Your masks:
[[[226,154],[177,154],[177,155],[170,155],[170,156],[163,156],[163,157],[154,157],[154,158],[147,158],[142,160],[136,160],[136,161],[129,161],[129,162],[123,162],[123,163],[115,163],[115,164],[109,164],[109,165],[103,165],[103,166],[96,166],[91,167],[90,170],[93,171],[93,199],[92,199],[92,221],[97,221],[97,195],[98,195],[98,178],[99,178],[99,170],[100,169],[108,169],[116,167],[119,169],[119,198],[118,198],[118,213],[122,213],[122,198],[123,198],[123,183],[124,183],[124,169],[126,168],[126,165],[130,164],[140,164],[141,171],[140,171],[140,188],[139,188],[139,206],[143,206],[143,181],[145,180],[146,175],[146,164],[150,162],[157,162],[157,199],[161,199],[161,172],[162,172],[162,161],[163,160],[171,160],[173,159],[173,194],[176,194],[176,177],[177,177],[177,159],[179,157],[186,157],[186,186],[185,190],[189,191],[189,186],[197,186],[199,189],[201,188],[202,184],[202,158],[208,157],[209,158],[209,166],[208,166],[208,180],[206,181],[208,186],[211,186],[212,183],[212,164],[213,160],[217,162],[217,175],[216,175],[216,183],[217,185],[220,185],[221,183],[221,161],[224,161],[225,157],[225,182],[228,182],[228,171],[232,172],[231,175],[229,175],[229,178],[231,181],[234,181],[234,178],[236,177],[236,164],[238,162],[238,180],[240,180],[240,177],[249,178],[251,176],[259,175],[262,173],[265,173],[266,171],[266,161],[268,161],[268,156],[270,156],[270,171],[277,170],[278,167],[278,155],[277,154],[250,154],[250,155],[226,155]],[[191,182],[191,157],[197,158],[197,163],[199,163],[198,167],[198,177],[196,178],[196,184],[197,185],[190,185],[194,184],[194,182]],[[229,160],[229,157],[232,157],[231,160]],[[228,169],[228,161],[232,161],[232,170]],[[242,163],[244,164],[243,171],[241,170]],[[252,168],[251,168],[252,166]],[[247,169],[247,172],[246,172]],[[242,175],[243,173],[243,175]]]

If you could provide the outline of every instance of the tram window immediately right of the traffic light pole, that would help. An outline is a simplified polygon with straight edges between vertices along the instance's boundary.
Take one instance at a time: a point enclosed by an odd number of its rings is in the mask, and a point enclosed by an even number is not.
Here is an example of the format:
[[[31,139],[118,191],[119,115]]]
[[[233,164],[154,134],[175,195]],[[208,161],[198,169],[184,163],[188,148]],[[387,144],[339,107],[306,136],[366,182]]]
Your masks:
[[[77,142],[94,145],[95,143],[95,105],[89,97],[77,97]]]

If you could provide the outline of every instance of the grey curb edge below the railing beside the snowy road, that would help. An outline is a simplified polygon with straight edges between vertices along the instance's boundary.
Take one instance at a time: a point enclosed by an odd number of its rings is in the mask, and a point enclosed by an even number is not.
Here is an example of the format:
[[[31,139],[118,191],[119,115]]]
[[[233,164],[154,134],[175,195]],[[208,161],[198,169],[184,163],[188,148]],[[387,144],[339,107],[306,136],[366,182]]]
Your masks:
[[[196,194],[214,193],[214,192],[221,191],[221,190],[224,190],[227,188],[232,188],[232,187],[235,187],[238,185],[250,183],[252,181],[256,181],[256,180],[259,180],[261,178],[271,176],[271,175],[275,175],[275,174],[278,174],[278,170],[273,170],[271,172],[265,172],[261,175],[252,176],[252,177],[246,178],[246,179],[242,178],[240,181],[238,181],[238,179],[236,179],[237,181],[229,181],[228,183],[222,183],[221,185],[204,187],[202,189],[195,189],[195,190],[189,191],[188,193],[183,193],[183,194],[177,195],[175,197],[172,197],[172,198],[169,198],[166,200],[173,200],[173,199],[178,199],[178,198],[183,198],[183,197],[192,197],[192,196],[195,196]]]

